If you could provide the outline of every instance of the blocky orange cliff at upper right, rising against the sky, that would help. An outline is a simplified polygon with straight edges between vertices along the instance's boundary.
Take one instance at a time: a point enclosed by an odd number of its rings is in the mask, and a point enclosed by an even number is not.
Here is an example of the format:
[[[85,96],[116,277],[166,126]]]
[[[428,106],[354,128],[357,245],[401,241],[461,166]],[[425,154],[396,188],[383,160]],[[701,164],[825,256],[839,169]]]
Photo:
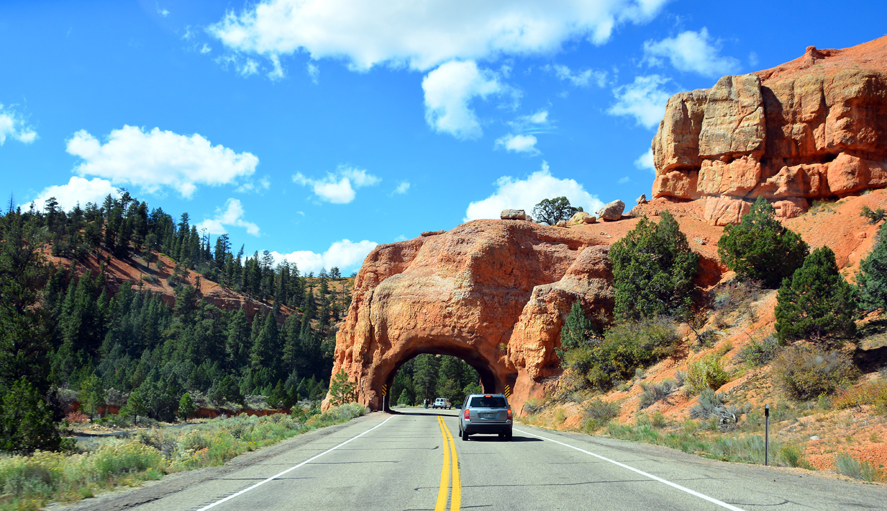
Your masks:
[[[756,197],[790,218],[814,198],[883,188],[887,36],[811,46],[773,69],[676,94],[652,145],[653,197],[708,197],[706,218],[718,225],[738,221],[739,202]]]

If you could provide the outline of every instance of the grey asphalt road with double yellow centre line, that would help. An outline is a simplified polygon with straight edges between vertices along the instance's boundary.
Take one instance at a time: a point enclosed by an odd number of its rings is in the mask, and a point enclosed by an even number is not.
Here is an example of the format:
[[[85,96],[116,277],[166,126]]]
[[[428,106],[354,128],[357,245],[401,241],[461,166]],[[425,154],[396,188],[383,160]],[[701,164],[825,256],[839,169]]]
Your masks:
[[[458,410],[404,409],[294,437],[66,509],[887,509],[883,485],[704,460],[516,425],[457,436]]]

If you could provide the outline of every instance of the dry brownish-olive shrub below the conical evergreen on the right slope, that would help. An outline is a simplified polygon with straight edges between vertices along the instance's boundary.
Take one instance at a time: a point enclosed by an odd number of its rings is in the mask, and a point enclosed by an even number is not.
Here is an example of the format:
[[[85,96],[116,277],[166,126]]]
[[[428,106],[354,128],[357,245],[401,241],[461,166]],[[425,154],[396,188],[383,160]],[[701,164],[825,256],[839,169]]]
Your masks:
[[[851,384],[859,372],[842,352],[791,346],[773,362],[776,380],[793,399],[812,399]]]

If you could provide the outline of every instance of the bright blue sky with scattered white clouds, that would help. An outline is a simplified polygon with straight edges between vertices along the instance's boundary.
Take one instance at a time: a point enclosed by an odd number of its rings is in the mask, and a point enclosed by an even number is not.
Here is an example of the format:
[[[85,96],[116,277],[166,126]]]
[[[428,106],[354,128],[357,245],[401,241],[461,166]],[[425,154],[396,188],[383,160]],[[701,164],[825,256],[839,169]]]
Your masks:
[[[0,193],[126,188],[247,252],[374,244],[566,195],[631,207],[671,94],[844,48],[880,2],[0,3]]]

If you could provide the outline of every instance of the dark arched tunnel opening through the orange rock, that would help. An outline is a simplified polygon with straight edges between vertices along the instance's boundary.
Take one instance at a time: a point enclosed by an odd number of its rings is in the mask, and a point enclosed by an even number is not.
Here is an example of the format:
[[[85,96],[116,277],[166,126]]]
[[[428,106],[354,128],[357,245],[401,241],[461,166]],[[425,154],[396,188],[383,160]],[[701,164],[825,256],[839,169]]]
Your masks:
[[[428,373],[434,382],[428,382]],[[420,376],[421,381],[415,381],[416,376]],[[405,401],[409,405],[421,405],[424,399],[430,399],[430,406],[434,399],[446,398],[453,407],[458,407],[468,393],[492,393],[502,387],[480,353],[448,346],[415,346],[404,352],[384,382],[387,412],[402,400],[404,390],[407,390]]]

